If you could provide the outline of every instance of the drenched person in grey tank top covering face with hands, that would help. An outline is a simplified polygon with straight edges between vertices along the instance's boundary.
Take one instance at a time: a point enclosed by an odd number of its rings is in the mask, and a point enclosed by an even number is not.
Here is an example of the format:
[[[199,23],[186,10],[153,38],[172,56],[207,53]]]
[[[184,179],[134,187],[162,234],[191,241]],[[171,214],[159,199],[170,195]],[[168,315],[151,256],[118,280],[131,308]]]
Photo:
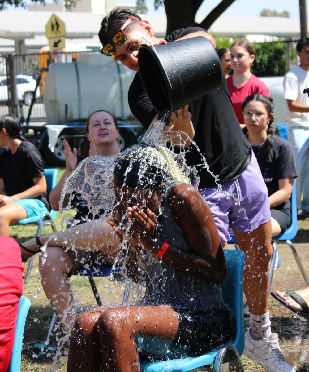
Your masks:
[[[208,205],[163,145],[135,145],[115,162],[109,223],[144,280],[135,305],[77,319],[67,371],[139,371],[140,359],[202,355],[232,336],[220,284],[227,264]]]

